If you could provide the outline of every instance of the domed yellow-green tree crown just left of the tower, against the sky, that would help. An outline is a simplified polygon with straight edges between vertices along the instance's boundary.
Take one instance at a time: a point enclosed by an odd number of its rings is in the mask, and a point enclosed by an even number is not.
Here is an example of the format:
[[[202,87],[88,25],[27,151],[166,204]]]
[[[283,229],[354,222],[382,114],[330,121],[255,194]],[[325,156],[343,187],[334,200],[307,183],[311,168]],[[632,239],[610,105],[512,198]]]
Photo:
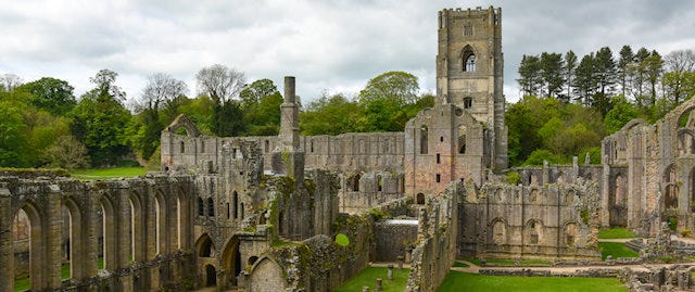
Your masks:
[[[374,77],[359,91],[359,102],[384,100],[397,105],[415,103],[420,86],[417,77],[406,72],[392,71]]]

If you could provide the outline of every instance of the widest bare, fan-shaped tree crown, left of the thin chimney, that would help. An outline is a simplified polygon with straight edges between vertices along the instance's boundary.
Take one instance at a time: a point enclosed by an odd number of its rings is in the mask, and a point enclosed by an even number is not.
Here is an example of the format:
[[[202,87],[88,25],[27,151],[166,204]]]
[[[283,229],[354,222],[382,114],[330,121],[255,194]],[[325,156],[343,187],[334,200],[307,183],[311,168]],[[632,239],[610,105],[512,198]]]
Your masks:
[[[199,92],[207,94],[219,105],[237,98],[247,85],[243,73],[220,64],[200,69],[195,79]]]

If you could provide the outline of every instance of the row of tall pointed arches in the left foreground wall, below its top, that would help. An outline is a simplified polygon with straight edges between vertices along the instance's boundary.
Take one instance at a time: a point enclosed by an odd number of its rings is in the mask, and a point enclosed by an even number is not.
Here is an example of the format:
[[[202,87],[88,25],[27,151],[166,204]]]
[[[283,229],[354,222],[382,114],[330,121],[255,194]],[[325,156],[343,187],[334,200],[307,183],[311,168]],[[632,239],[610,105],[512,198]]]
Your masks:
[[[182,190],[174,195],[105,189],[18,198],[13,196],[16,207],[4,213],[13,230],[8,249],[0,249],[11,259],[3,263],[7,277],[0,277],[8,287],[24,274],[30,290],[61,287],[68,279],[87,281],[101,269],[122,269],[188,245],[191,220]]]

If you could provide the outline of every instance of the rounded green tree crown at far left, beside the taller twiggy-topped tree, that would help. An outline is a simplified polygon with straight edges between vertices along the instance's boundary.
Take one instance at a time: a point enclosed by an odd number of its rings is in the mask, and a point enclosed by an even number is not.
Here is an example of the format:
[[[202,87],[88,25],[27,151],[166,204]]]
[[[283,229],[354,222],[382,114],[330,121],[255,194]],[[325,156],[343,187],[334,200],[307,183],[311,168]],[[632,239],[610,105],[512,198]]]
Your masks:
[[[43,77],[16,88],[31,94],[29,102],[34,106],[54,115],[66,115],[77,105],[73,96],[74,89],[67,81],[51,77]]]

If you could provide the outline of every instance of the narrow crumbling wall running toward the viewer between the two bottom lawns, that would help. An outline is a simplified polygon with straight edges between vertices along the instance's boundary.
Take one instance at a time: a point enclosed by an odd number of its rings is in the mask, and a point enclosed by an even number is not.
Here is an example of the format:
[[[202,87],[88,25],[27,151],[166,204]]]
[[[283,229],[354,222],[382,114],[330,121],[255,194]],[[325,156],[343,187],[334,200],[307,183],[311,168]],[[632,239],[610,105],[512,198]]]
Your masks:
[[[452,182],[419,210],[418,238],[406,291],[435,291],[456,259],[458,198],[462,182]]]

